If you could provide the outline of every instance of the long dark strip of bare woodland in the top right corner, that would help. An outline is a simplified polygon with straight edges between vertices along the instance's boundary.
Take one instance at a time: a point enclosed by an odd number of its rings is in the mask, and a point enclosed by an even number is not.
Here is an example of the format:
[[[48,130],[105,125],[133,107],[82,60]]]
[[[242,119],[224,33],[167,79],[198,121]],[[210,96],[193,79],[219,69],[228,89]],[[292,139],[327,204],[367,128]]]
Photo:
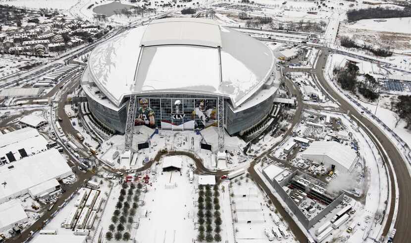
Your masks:
[[[361,19],[402,17],[411,17],[410,7],[405,7],[404,9],[392,9],[389,7],[370,7],[347,11],[348,22],[354,22]]]

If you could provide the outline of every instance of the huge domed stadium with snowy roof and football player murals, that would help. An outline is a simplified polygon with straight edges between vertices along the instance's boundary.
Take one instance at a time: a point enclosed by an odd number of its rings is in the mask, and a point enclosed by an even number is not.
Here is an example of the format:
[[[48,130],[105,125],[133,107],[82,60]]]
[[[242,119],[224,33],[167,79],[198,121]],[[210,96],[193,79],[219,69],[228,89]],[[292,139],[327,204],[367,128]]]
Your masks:
[[[125,133],[135,96],[135,125],[203,129],[217,125],[223,107],[226,132],[242,135],[273,107],[274,64],[266,45],[213,20],[166,18],[96,47],[81,84],[94,118],[113,133]]]

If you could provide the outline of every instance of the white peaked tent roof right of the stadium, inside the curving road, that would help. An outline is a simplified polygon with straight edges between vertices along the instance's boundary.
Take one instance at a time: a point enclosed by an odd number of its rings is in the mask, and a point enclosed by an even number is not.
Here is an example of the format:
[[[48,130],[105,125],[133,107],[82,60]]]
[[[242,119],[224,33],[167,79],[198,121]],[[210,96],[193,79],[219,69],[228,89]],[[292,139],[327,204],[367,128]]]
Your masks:
[[[358,160],[356,152],[350,146],[344,146],[334,141],[312,142],[307,150],[303,152],[303,158],[317,160],[316,162],[339,164],[348,171]]]

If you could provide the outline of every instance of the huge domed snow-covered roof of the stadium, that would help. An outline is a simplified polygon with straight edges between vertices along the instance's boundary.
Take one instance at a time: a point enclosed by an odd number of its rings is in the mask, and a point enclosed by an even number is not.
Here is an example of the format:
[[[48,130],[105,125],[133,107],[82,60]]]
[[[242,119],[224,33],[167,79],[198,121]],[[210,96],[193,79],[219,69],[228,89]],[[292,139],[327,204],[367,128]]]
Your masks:
[[[96,47],[88,68],[117,106],[131,94],[176,92],[222,95],[236,107],[264,84],[273,64],[272,51],[248,35],[212,20],[168,18]]]

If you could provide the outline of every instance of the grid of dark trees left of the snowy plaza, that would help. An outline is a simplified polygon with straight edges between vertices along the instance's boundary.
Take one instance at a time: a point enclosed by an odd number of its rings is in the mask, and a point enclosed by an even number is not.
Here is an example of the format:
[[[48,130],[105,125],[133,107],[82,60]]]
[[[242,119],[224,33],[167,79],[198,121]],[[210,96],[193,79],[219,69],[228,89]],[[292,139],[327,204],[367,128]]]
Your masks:
[[[116,209],[111,217],[112,224],[108,226],[109,231],[105,233],[105,239],[107,241],[110,241],[113,237],[116,241],[120,241],[121,239],[124,241],[130,240],[131,224],[134,222],[134,216],[137,213],[142,187],[143,185],[141,185],[141,183],[137,185],[137,189],[134,184],[131,184],[130,187],[128,187],[127,183],[122,185],[117,204],[115,205]],[[126,223],[127,225],[124,227]],[[117,227],[115,224],[117,224]],[[125,228],[127,228],[127,231],[123,234]],[[116,233],[114,233],[115,230],[117,230]]]

